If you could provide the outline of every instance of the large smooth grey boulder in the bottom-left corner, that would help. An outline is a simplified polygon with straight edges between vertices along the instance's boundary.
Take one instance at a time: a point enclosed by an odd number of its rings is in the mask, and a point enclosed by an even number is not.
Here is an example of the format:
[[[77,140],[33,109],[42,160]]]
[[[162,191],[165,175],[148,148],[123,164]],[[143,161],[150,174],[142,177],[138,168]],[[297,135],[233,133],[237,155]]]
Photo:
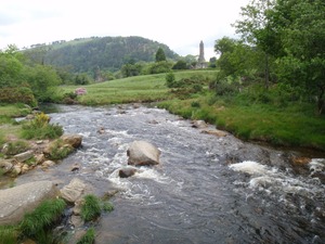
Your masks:
[[[0,190],[0,226],[23,220],[42,201],[55,198],[58,190],[52,181],[35,181],[15,188]]]

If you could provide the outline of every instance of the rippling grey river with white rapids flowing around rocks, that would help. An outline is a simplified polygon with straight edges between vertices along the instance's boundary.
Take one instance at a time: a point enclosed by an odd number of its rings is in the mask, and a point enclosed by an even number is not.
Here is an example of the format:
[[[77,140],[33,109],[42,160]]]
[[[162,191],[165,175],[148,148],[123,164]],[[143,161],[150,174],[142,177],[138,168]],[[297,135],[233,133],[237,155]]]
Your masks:
[[[65,133],[82,134],[82,147],[20,180],[63,185],[77,177],[96,194],[118,189],[115,210],[95,227],[98,244],[325,243],[325,187],[315,177],[324,159],[297,170],[295,152],[202,133],[155,107],[61,106],[50,116]],[[156,145],[160,165],[119,178],[134,140]],[[80,169],[69,170],[75,164]]]

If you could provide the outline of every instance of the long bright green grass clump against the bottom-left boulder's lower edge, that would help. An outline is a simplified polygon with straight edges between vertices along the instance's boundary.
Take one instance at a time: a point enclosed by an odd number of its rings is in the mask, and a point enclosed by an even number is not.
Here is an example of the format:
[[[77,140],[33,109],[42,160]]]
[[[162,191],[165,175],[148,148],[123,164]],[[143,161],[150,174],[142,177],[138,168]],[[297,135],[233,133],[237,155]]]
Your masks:
[[[25,214],[20,226],[23,234],[35,237],[49,230],[61,218],[65,207],[66,203],[61,198],[42,202],[32,213]]]

